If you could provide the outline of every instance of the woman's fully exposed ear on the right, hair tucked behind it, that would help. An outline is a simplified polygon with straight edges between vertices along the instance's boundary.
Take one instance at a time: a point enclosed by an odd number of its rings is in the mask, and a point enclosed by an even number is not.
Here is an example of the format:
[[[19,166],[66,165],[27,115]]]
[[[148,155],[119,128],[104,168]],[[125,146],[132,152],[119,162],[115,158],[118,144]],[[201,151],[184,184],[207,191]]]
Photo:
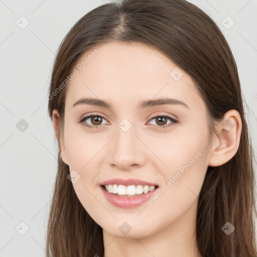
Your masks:
[[[242,130],[242,121],[237,110],[227,111],[216,125],[217,137],[211,142],[208,165],[220,166],[236,154]]]

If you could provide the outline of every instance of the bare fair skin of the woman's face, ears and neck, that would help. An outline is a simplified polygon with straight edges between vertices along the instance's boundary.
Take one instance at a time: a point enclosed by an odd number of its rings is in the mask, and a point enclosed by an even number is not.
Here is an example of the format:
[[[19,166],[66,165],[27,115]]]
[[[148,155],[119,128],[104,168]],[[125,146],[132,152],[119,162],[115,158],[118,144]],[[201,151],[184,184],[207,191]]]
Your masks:
[[[62,159],[80,175],[74,190],[103,228],[104,256],[201,256],[194,234],[198,195],[208,166],[222,165],[237,152],[239,113],[226,112],[222,122],[229,119],[232,129],[225,130],[220,122],[218,136],[210,138],[204,100],[185,72],[177,81],[170,75],[177,66],[167,56],[139,43],[112,42],[95,48],[99,53],[68,85],[64,131],[59,132],[57,110],[53,120]],[[90,53],[84,53],[78,63]],[[112,108],[73,106],[81,97],[107,101]],[[177,99],[188,107],[139,107],[143,100],[159,98]],[[97,129],[98,123],[91,118],[78,122],[90,114],[103,117]],[[178,122],[166,119],[162,125],[154,118],[157,115]],[[119,127],[124,118],[132,125],[127,132]],[[190,167],[167,186],[185,164]],[[166,191],[155,201],[119,208],[105,199],[99,186],[111,178],[138,178],[159,189],[166,185]],[[132,228],[127,234],[119,230],[123,222]]]

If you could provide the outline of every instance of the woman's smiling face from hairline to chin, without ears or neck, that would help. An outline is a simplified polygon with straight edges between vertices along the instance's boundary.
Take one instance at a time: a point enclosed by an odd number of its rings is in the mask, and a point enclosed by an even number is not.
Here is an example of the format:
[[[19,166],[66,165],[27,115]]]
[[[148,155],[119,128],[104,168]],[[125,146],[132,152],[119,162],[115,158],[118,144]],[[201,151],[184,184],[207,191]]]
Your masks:
[[[191,78],[141,43],[105,43],[75,69],[61,151],[89,215],[104,231],[130,238],[194,217],[210,138]]]

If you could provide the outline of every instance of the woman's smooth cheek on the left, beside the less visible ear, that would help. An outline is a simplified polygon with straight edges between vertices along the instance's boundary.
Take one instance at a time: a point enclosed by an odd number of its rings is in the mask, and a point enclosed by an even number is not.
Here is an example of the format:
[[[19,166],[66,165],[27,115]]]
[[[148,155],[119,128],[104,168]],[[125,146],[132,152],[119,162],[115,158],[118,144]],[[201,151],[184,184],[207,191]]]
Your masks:
[[[74,190],[84,207],[95,204],[92,192],[95,190],[99,174],[99,152],[103,149],[104,140],[94,134],[86,134],[81,127],[67,124],[65,131],[65,153],[70,172],[76,171],[79,178],[73,184]],[[98,188],[97,188],[98,189]]]

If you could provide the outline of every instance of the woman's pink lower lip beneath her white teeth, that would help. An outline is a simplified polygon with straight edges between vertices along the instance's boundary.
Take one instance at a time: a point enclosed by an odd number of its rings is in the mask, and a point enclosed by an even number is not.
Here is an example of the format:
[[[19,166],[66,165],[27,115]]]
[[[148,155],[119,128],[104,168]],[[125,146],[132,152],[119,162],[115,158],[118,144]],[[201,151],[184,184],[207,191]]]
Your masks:
[[[136,195],[136,196],[118,196],[118,195],[109,193],[102,186],[100,187],[107,201],[113,204],[114,206],[120,207],[120,208],[134,208],[134,207],[140,206],[141,204],[147,202],[149,198],[151,198],[156,193],[156,190],[158,189],[157,187],[151,192],[148,192],[146,194],[143,193],[141,195]]]

